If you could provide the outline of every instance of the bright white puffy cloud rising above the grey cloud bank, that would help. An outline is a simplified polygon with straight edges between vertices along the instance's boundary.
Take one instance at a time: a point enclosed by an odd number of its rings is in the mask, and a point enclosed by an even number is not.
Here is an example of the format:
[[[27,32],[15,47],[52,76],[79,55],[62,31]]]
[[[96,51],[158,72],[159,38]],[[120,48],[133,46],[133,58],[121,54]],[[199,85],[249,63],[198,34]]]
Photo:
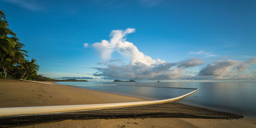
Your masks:
[[[125,57],[131,59],[131,65],[135,65],[136,62],[144,63],[145,65],[154,65],[164,62],[160,59],[152,59],[150,56],[144,55],[138,50],[138,48],[133,45],[132,42],[126,41],[124,38],[127,34],[135,32],[135,29],[128,28],[126,30],[113,30],[110,34],[112,37],[110,41],[102,40],[101,42],[96,42],[93,47],[96,48],[103,59],[110,59],[111,54],[114,51],[122,54]]]

